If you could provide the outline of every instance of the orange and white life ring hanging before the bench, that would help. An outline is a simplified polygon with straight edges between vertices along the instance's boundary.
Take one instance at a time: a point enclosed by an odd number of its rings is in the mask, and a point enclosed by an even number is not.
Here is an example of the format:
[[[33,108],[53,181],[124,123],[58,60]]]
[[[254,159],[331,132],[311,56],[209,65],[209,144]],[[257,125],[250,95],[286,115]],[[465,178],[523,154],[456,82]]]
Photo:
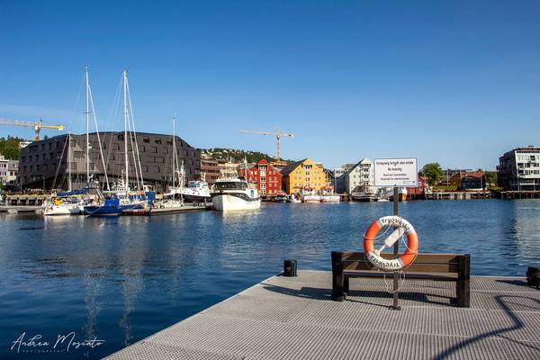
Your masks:
[[[393,226],[394,232],[384,240],[384,246],[375,249],[375,238],[384,226]],[[393,242],[407,235],[407,249],[401,257],[396,259],[385,259],[381,257],[381,251],[384,247],[392,246]],[[367,228],[364,234],[364,253],[365,257],[375,267],[383,271],[396,271],[410,266],[419,253],[419,236],[409,221],[400,216],[384,216],[374,222]]]

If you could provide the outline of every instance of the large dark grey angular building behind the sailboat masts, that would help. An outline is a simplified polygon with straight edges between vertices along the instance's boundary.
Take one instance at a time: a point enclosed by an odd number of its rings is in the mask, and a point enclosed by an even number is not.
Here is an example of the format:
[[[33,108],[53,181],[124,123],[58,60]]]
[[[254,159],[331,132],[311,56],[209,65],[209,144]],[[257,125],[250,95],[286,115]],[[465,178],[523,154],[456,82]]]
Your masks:
[[[130,164],[130,184],[136,184],[136,158],[140,158],[140,169],[145,184],[150,184],[157,191],[165,190],[166,184],[172,183],[173,138],[171,135],[137,132],[128,141],[128,162]],[[89,167],[93,179],[101,184],[105,182],[105,168],[109,183],[125,178],[125,152],[123,132],[100,132],[102,150],[100,151],[98,134],[89,134]],[[34,141],[21,151],[19,179],[23,188],[66,189],[67,174],[71,163],[73,188],[83,188],[86,184],[86,135],[71,135],[71,144],[67,146],[68,135]],[[135,139],[138,148],[135,147]],[[175,137],[177,163],[184,162],[187,179],[194,179],[200,172],[200,151],[187,144],[184,139]],[[102,157],[103,153],[103,157]],[[104,164],[104,166],[103,166]]]

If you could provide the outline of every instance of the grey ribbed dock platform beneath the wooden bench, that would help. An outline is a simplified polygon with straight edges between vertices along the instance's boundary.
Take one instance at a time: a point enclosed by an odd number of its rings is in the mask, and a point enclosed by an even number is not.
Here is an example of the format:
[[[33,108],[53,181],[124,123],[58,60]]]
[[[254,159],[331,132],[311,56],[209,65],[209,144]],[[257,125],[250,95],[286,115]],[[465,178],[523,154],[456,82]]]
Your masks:
[[[107,358],[540,358],[540,292],[524,278],[473,276],[469,309],[450,304],[451,282],[406,279],[401,311],[381,278],[350,288],[333,302],[330,272],[273,276]]]

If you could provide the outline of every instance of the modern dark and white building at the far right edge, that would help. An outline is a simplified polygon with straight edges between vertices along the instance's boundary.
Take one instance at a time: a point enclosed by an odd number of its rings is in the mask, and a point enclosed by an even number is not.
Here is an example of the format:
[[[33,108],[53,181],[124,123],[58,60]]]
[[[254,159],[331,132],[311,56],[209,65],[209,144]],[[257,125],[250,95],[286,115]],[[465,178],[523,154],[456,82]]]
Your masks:
[[[499,157],[498,185],[505,190],[540,190],[540,148],[514,148]]]

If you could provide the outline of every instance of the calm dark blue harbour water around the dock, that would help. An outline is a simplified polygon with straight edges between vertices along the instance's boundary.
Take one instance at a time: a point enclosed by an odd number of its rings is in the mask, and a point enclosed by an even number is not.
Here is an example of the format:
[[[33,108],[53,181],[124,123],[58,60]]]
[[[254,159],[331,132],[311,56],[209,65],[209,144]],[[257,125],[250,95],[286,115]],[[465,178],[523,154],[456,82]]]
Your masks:
[[[420,251],[470,253],[475,275],[540,266],[540,201],[405,202],[400,213],[417,229]],[[2,214],[0,358],[109,355],[275,275],[285,258],[329,270],[330,251],[362,250],[365,229],[388,214],[390,202],[151,218]],[[23,333],[54,345],[70,332],[105,342],[91,351],[11,350]]]

